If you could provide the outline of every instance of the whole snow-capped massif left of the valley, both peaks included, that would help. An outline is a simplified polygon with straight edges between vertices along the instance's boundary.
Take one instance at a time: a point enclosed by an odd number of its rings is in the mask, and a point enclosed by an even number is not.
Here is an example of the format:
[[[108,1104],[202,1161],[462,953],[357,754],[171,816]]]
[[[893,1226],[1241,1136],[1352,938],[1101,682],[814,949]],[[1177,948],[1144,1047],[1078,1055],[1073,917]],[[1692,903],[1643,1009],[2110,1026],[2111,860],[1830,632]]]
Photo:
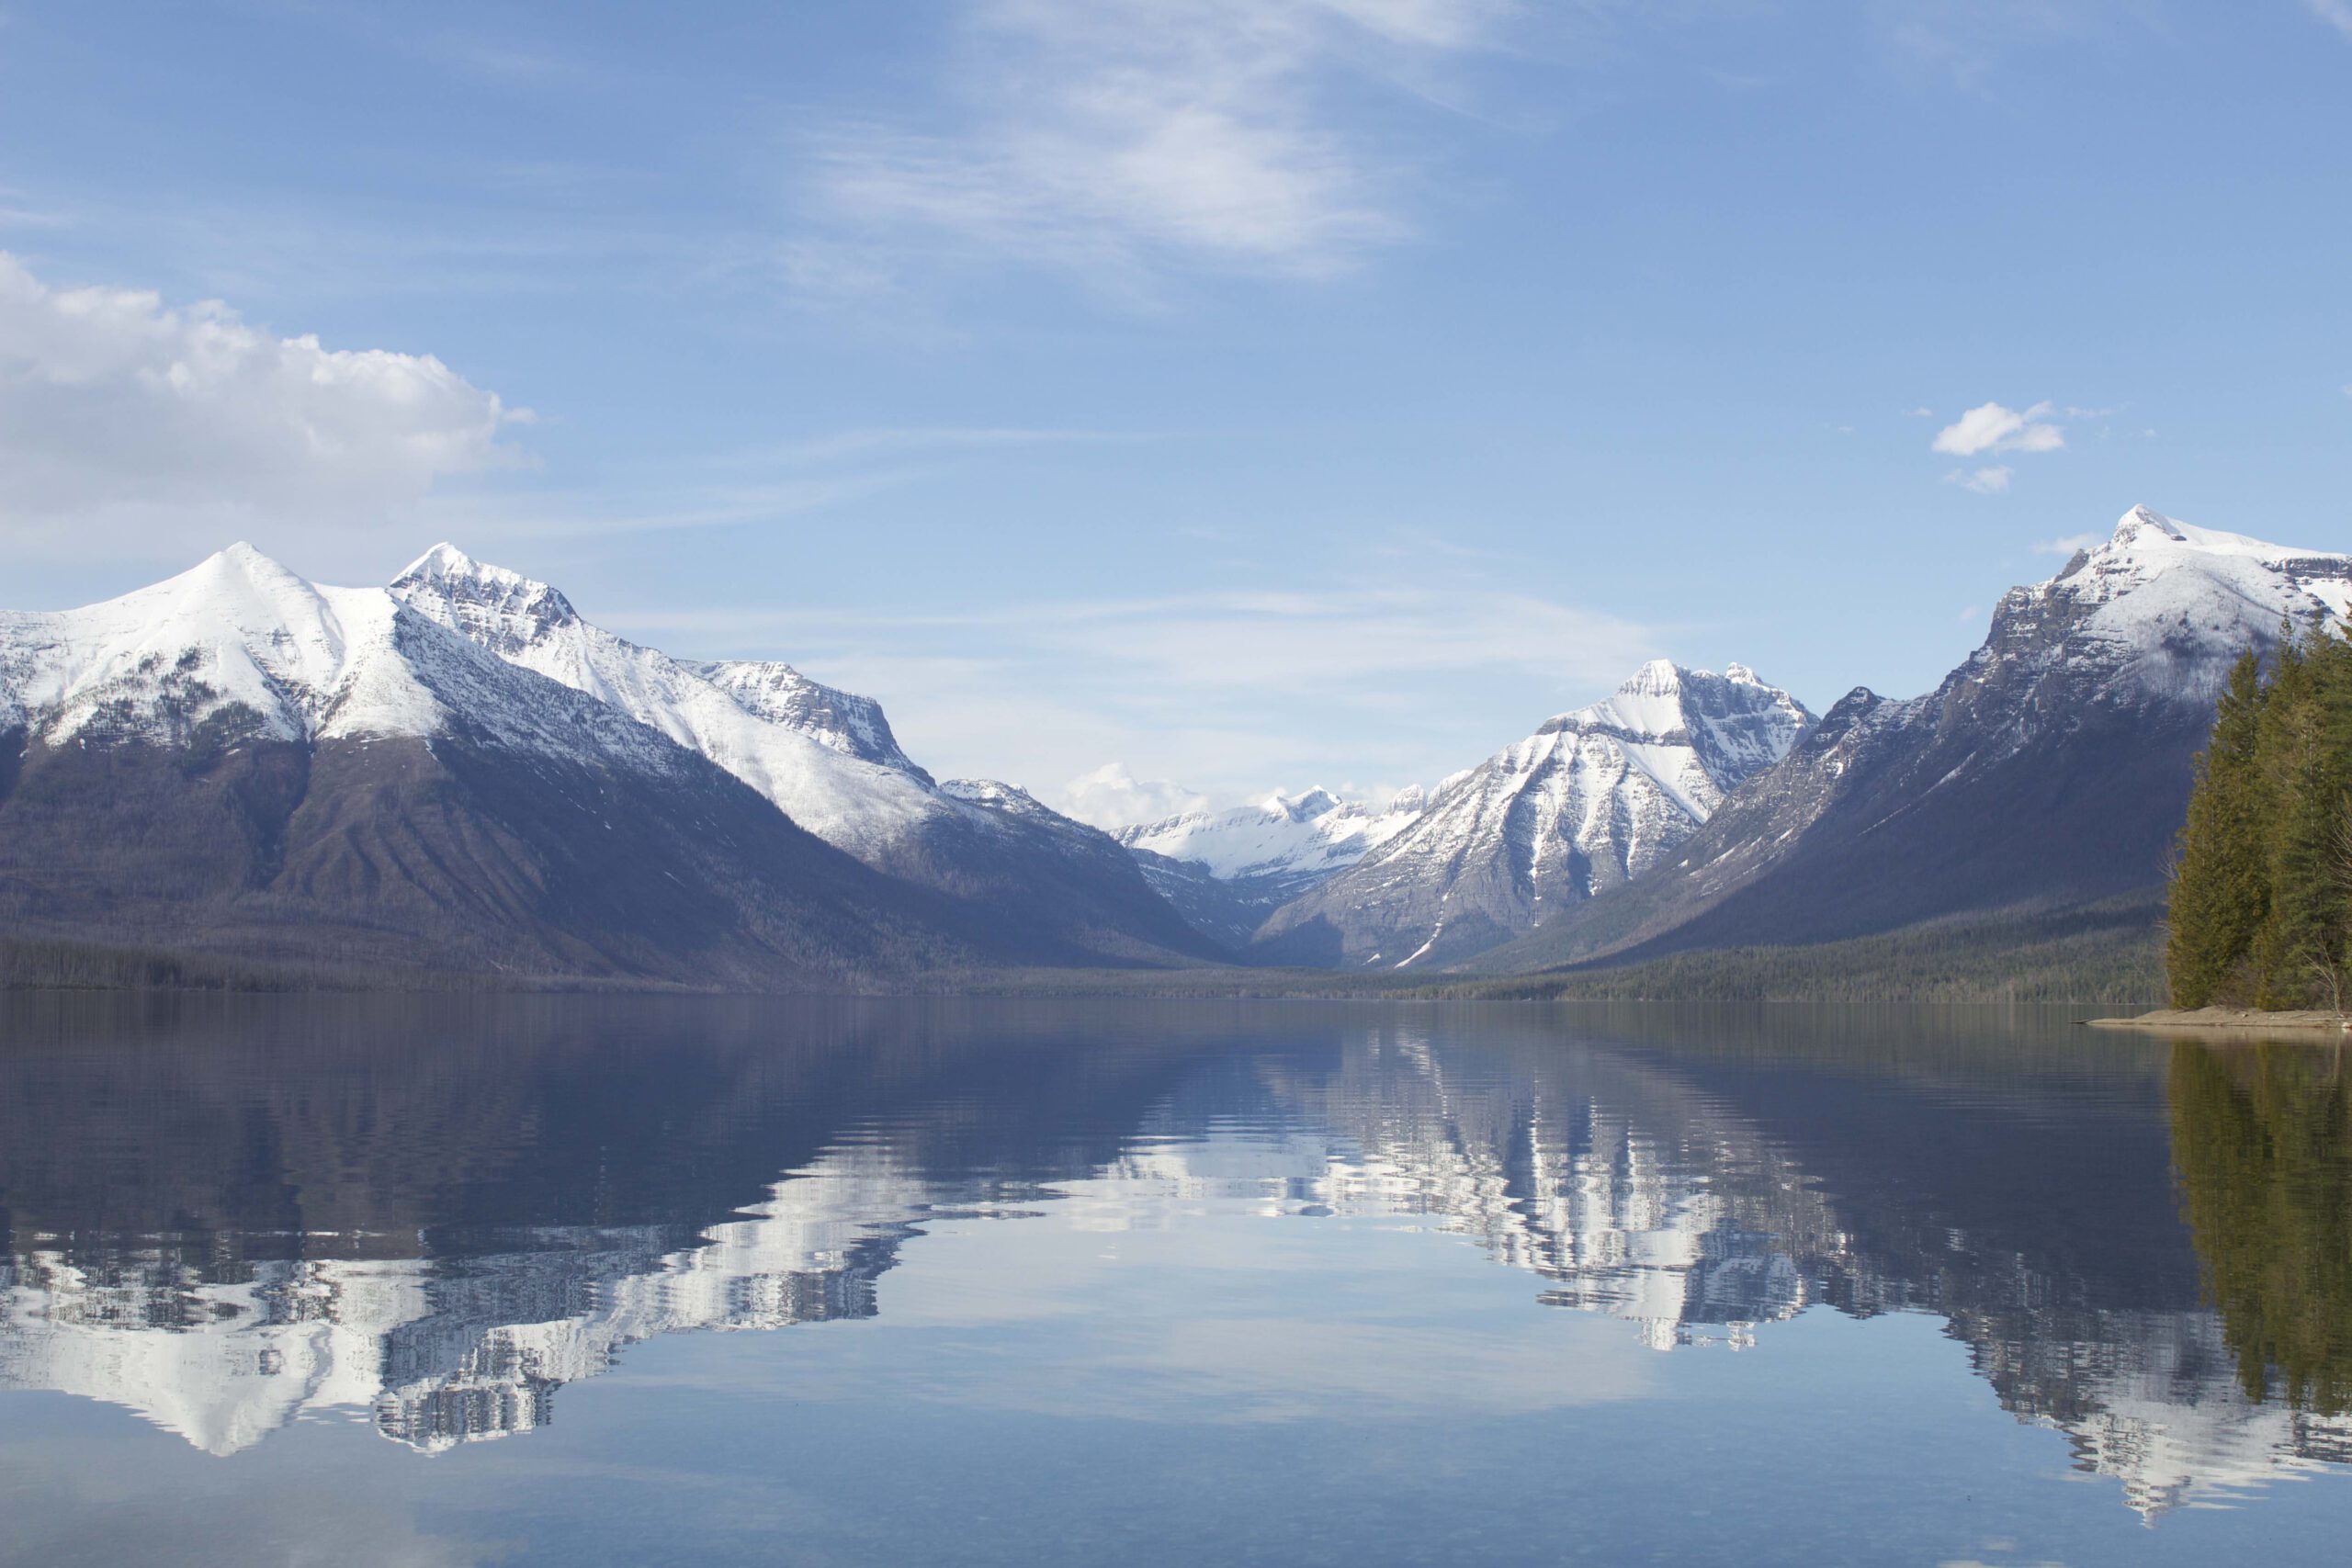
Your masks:
[[[301,966],[762,987],[1214,952],[1105,835],[934,785],[870,701],[680,665],[454,550],[388,590],[233,545],[0,614],[0,914]]]

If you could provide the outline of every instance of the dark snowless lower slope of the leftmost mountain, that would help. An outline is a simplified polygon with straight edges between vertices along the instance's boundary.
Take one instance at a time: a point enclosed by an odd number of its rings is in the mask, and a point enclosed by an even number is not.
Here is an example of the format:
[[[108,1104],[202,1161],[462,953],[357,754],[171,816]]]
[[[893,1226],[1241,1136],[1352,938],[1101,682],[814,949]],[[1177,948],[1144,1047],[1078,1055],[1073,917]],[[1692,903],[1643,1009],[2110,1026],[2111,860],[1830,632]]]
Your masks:
[[[35,745],[0,919],[294,966],[856,985],[974,947],[717,769],[437,741]]]

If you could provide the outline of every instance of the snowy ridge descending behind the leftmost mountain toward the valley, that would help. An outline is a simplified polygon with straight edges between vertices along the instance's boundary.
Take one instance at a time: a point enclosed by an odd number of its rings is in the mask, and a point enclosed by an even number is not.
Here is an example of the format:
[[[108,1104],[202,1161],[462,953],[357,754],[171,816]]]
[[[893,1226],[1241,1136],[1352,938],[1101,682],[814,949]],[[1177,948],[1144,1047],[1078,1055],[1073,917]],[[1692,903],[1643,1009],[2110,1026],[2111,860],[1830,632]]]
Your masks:
[[[1004,961],[1214,959],[1101,830],[993,780],[936,783],[873,698],[781,663],[687,663],[586,621],[562,592],[435,545],[393,597],[701,752],[828,844],[938,891]]]

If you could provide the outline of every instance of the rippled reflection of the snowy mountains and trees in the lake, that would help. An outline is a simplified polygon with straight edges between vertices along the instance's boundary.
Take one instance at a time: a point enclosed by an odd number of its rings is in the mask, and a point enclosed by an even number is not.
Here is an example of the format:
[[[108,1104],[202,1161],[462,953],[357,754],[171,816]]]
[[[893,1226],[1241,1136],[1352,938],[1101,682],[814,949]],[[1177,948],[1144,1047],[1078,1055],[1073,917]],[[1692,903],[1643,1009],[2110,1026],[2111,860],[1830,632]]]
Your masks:
[[[2331,1048],[1795,1009],[0,1006],[0,1387],[216,1455],[334,1410],[421,1450],[529,1432],[633,1342],[875,1316],[943,1220],[1216,1199],[1423,1215],[1658,1352],[1938,1314],[2147,1516],[2352,1462]]]

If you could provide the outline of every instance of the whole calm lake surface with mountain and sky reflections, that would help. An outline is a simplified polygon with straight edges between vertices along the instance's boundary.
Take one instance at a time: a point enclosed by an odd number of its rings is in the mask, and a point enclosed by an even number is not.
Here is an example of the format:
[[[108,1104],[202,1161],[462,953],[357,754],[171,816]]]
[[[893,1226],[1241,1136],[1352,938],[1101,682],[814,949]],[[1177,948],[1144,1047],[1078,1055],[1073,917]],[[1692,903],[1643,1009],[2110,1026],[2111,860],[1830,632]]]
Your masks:
[[[2343,1048],[0,999],[9,1563],[2340,1563]]]

